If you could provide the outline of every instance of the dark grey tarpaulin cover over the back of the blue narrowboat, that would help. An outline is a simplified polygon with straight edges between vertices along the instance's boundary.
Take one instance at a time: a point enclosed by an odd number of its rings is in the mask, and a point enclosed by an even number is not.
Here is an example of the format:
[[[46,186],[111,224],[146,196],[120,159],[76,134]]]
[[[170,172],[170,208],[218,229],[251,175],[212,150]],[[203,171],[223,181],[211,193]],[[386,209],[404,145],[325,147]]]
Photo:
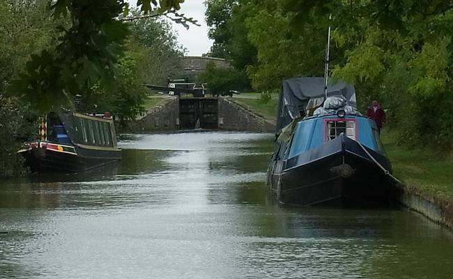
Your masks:
[[[327,95],[344,96],[348,105],[357,107],[354,86],[342,80],[329,82]],[[323,97],[324,77],[295,77],[284,80],[280,89],[276,132],[280,133],[293,119],[300,117],[300,112],[305,112],[311,98]]]

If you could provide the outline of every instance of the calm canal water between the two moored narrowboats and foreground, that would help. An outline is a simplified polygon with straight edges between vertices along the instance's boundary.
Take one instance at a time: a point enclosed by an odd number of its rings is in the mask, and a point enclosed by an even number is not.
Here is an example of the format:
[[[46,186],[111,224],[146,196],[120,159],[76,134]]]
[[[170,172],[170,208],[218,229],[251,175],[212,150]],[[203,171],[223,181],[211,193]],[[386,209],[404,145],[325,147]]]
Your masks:
[[[0,182],[0,278],[452,278],[453,234],[401,208],[282,208],[272,135],[134,135],[123,161]]]

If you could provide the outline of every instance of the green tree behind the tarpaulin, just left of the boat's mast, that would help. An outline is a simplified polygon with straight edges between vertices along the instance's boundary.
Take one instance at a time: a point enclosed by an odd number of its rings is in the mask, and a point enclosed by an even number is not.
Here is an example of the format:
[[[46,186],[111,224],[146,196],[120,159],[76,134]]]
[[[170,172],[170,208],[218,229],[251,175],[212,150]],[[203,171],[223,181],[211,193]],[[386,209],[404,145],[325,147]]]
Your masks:
[[[254,88],[275,90],[288,77],[322,75],[326,29],[305,24],[296,30],[280,1],[267,3],[245,21],[257,50],[256,65],[247,68]]]

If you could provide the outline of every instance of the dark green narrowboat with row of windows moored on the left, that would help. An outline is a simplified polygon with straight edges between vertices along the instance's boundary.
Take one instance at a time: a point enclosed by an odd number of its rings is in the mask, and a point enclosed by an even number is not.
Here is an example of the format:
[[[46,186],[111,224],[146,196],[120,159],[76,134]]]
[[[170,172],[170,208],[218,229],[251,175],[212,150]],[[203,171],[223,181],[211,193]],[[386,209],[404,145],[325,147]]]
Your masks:
[[[39,140],[18,153],[31,172],[84,172],[121,160],[111,116],[70,111],[47,114]]]

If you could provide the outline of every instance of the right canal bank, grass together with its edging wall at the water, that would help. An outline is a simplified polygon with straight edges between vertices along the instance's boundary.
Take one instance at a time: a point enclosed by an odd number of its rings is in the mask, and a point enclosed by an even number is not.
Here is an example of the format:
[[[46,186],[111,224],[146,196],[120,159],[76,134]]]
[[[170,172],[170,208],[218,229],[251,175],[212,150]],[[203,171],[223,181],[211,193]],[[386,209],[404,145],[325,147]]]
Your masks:
[[[384,129],[381,139],[401,180],[394,197],[409,209],[453,229],[453,160],[450,154],[397,144],[394,130]]]

